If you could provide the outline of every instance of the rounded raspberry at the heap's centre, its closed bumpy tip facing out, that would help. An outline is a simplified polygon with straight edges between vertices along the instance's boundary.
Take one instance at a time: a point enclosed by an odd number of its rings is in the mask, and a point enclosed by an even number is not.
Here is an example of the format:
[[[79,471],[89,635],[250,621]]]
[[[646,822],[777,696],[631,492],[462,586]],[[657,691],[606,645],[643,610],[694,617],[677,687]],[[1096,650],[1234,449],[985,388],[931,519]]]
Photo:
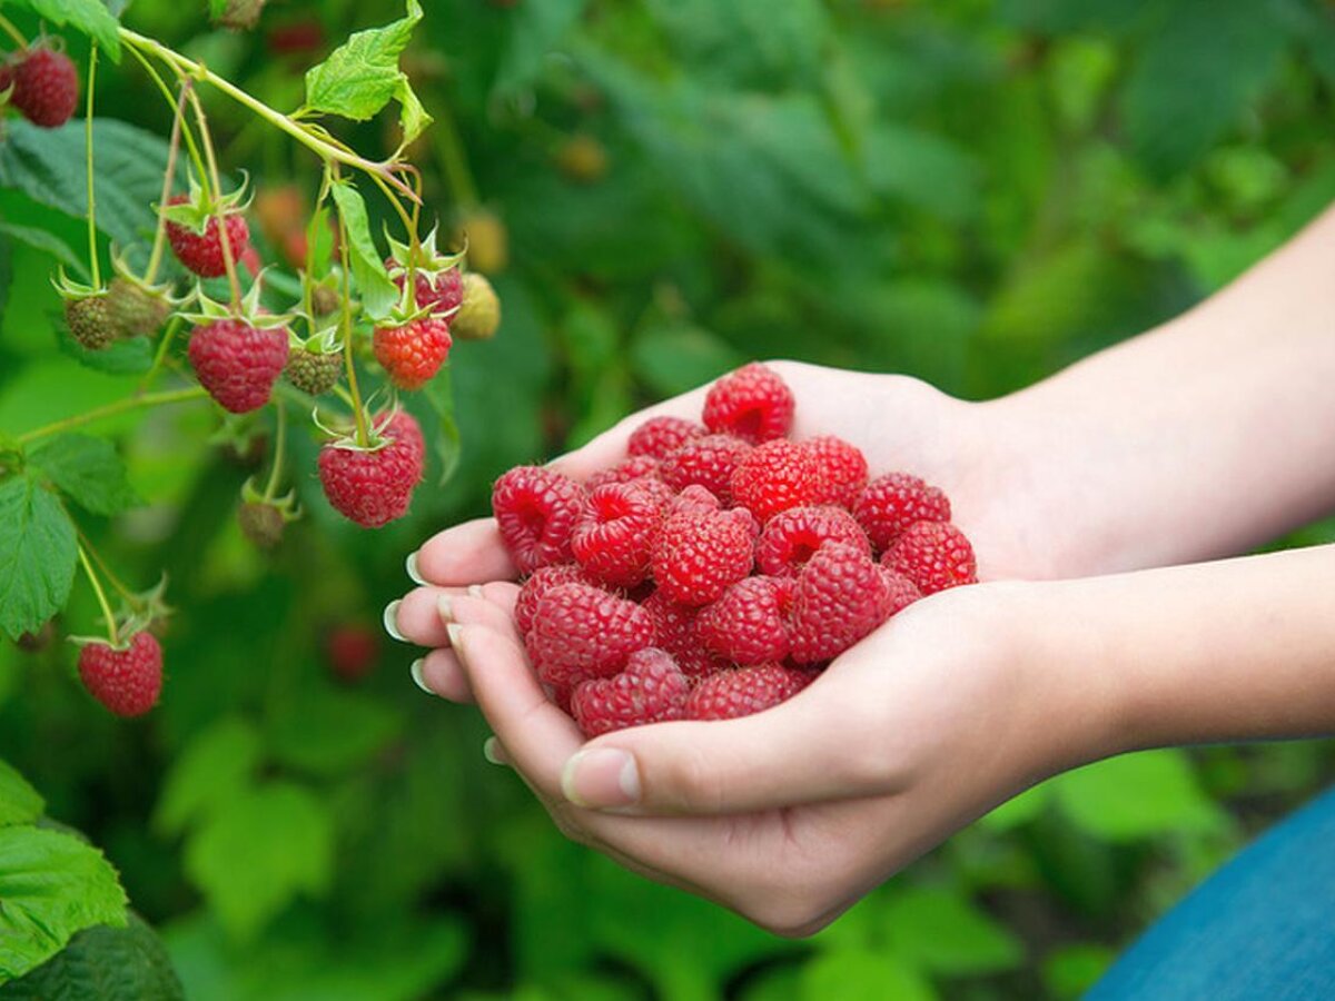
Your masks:
[[[745,511],[670,515],[654,542],[654,581],[673,601],[709,605],[750,573],[753,541]]]

